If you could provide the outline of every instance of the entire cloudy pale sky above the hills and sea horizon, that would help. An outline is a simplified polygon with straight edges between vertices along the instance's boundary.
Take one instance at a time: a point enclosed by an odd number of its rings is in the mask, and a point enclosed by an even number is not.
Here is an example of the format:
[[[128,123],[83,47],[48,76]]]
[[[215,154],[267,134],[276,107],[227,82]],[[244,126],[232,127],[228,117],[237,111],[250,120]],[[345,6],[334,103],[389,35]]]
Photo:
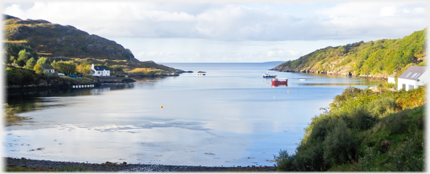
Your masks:
[[[424,1],[9,1],[3,14],[71,25],[141,61],[267,62],[398,39],[428,26]]]

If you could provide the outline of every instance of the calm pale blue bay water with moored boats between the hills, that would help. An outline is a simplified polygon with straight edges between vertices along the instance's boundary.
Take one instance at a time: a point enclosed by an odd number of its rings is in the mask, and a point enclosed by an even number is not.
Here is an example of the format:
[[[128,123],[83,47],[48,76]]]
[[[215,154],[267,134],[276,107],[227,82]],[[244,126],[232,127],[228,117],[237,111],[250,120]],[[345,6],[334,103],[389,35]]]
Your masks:
[[[95,89],[8,94],[25,120],[4,126],[3,156],[132,164],[271,166],[348,86],[380,81],[270,72],[278,63],[161,63],[194,73]],[[205,71],[206,76],[197,76]],[[306,81],[300,81],[306,78]],[[163,106],[161,108],[160,106]]]

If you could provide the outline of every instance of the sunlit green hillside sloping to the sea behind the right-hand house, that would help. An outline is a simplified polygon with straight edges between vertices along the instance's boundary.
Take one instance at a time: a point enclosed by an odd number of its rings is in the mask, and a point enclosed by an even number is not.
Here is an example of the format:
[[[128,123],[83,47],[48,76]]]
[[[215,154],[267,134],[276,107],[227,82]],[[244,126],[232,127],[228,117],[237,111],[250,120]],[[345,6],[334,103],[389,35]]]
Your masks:
[[[407,64],[423,62],[426,43],[424,29],[401,39],[360,41],[319,49],[271,70],[386,78]]]

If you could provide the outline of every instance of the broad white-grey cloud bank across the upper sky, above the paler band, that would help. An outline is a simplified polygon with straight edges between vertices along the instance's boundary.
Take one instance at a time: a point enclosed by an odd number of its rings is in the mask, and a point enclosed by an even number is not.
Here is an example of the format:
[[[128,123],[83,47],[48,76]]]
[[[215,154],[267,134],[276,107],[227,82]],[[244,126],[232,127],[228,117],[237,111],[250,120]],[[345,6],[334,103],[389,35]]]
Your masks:
[[[4,13],[72,25],[102,37],[225,41],[399,38],[426,27],[423,4],[338,3],[306,15],[274,10],[295,4],[47,2]],[[306,5],[302,5],[306,6]]]

